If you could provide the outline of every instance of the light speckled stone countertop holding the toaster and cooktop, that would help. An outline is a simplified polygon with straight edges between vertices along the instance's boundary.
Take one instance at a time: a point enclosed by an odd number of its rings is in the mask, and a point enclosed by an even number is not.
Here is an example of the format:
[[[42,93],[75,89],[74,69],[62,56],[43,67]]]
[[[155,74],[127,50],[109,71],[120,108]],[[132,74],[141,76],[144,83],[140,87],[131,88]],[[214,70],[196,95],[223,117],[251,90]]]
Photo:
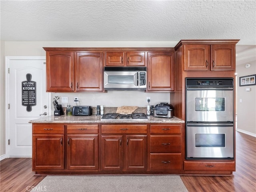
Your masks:
[[[184,120],[181,120],[176,117],[172,118],[160,118],[154,116],[148,116],[148,120],[101,120],[100,115],[91,115],[91,116],[45,116],[42,118],[30,120],[29,123],[96,123],[96,124],[108,124],[108,123],[185,123]]]

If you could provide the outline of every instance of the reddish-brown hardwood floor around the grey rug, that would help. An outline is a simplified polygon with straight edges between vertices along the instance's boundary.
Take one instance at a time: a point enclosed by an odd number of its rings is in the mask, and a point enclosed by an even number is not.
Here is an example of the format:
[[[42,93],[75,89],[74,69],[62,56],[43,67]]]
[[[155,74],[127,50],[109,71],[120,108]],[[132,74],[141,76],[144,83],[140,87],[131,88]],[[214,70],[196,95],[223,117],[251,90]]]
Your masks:
[[[0,162],[0,191],[28,192],[45,176],[34,176],[31,158],[6,158]],[[256,138],[236,132],[234,176],[180,176],[189,192],[255,192]]]

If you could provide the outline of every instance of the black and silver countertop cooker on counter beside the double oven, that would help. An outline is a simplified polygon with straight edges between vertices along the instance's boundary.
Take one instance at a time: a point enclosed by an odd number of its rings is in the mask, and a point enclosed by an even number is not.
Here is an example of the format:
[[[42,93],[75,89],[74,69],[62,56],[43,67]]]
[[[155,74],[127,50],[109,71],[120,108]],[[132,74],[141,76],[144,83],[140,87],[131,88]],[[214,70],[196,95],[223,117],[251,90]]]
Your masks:
[[[154,117],[172,118],[173,117],[172,105],[168,103],[157,104],[154,108]]]

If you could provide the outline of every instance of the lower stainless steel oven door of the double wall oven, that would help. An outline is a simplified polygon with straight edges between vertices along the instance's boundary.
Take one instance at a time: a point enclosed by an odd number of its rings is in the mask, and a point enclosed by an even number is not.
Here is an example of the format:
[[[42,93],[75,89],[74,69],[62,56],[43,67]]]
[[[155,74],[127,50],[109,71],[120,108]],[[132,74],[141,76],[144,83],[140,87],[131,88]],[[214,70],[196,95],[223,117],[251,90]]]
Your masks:
[[[234,124],[187,124],[186,159],[234,159]]]

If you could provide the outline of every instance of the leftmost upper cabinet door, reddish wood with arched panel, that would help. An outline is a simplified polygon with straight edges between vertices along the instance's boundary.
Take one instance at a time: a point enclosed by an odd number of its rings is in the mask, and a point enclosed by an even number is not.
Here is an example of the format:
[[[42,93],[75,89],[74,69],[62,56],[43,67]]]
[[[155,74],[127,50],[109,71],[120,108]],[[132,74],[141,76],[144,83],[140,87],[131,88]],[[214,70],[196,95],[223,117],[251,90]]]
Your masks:
[[[48,92],[74,91],[74,53],[46,52]]]

